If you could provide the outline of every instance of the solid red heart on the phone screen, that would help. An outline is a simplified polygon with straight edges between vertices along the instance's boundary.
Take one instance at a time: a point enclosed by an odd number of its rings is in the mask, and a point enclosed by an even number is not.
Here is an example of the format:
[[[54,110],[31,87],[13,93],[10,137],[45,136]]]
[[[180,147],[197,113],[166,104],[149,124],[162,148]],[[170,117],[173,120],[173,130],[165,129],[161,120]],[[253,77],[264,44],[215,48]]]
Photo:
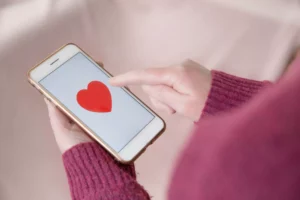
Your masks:
[[[87,90],[80,90],[77,93],[77,102],[82,108],[92,112],[111,112],[112,109],[109,89],[99,81],[92,81]]]

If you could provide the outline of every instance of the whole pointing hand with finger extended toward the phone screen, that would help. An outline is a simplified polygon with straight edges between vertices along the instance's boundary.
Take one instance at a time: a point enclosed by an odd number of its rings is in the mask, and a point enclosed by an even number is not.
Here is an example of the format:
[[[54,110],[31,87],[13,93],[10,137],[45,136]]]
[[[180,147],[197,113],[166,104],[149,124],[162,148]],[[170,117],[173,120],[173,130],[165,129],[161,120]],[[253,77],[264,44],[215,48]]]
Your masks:
[[[211,87],[211,73],[187,60],[172,67],[128,72],[111,78],[110,84],[119,87],[142,85],[157,109],[197,121]]]

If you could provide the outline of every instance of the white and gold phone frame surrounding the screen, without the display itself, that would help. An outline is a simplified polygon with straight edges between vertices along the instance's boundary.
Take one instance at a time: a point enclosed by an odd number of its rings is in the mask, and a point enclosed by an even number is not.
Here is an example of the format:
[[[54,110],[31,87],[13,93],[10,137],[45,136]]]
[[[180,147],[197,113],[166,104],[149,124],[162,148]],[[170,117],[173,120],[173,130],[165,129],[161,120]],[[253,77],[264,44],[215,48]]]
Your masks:
[[[54,52],[40,64],[35,66],[28,72],[28,80],[35,88],[37,88],[41,94],[43,94],[48,100],[52,101],[62,112],[76,122],[85,132],[87,132],[93,139],[100,143],[109,153],[111,153],[118,161],[122,163],[130,163],[140,156],[144,150],[154,142],[165,130],[165,122],[147,105],[145,105],[139,98],[132,94],[129,90],[123,87],[123,89],[132,96],[137,102],[139,102],[145,109],[153,114],[154,119],[138,134],[136,135],[120,152],[116,152],[108,144],[105,143],[95,132],[87,127],[72,111],[66,108],[60,101],[50,94],[39,81],[49,75],[55,69],[60,67],[67,60],[72,58],[77,53],[82,53],[91,62],[99,67],[99,70],[104,72],[108,77],[112,75],[107,72],[103,67],[99,66],[87,53],[75,44],[67,44]],[[55,61],[55,62],[54,62]],[[54,63],[53,63],[54,62]]]

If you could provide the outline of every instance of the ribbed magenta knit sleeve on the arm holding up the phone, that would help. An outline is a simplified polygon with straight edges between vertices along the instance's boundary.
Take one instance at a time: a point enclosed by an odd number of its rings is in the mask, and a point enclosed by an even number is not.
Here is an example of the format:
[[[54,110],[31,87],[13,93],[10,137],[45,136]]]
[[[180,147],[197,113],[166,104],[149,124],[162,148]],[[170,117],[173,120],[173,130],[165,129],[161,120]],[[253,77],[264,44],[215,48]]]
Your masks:
[[[79,144],[63,155],[73,200],[148,200],[133,165],[118,163],[96,143]]]

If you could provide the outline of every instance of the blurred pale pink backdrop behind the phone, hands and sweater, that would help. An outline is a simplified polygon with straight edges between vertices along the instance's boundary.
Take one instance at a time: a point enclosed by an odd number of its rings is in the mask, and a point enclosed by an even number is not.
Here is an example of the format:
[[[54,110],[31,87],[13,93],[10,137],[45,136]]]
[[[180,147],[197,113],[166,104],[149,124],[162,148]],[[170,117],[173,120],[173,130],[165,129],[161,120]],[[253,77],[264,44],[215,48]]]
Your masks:
[[[26,77],[60,46],[78,44],[112,74],[191,58],[274,81],[300,44],[299,30],[299,0],[1,0],[0,199],[70,199],[43,98]],[[161,115],[167,131],[136,162],[154,200],[165,199],[192,126]]]

